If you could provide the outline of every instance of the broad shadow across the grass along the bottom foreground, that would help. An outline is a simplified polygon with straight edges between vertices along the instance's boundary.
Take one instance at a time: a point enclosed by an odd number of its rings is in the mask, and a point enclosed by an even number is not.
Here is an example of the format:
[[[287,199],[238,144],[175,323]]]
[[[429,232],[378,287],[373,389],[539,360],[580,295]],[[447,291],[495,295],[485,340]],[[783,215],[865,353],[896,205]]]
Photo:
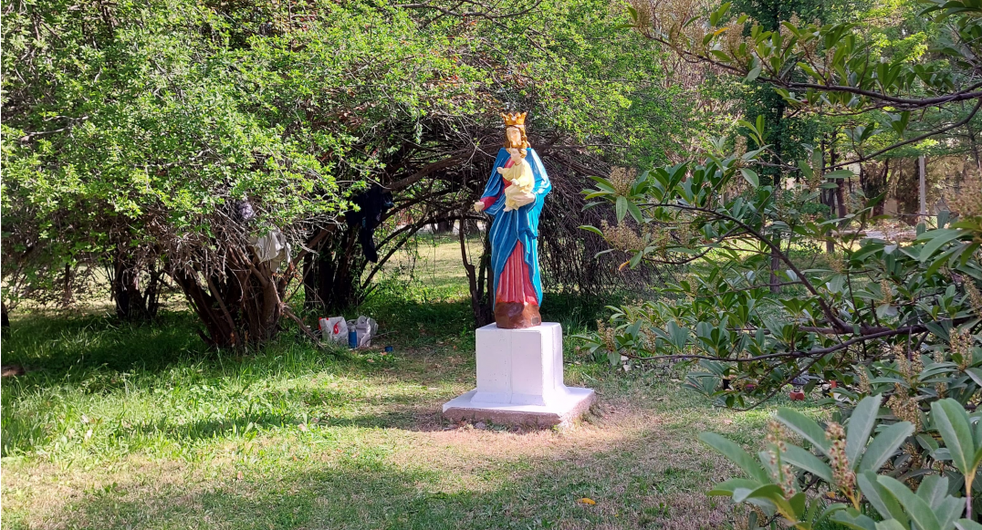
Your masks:
[[[4,522],[19,529],[107,530],[729,526],[726,504],[702,493],[699,463],[666,468],[634,451],[644,451],[642,440],[560,450],[534,462],[475,456],[482,461],[463,473],[442,468],[446,462],[401,463],[371,448],[314,452],[305,461],[282,458],[261,467],[232,462],[221,478],[191,483],[190,475],[151,478],[143,470],[128,481],[96,483],[80,499],[46,506],[47,513],[7,513]],[[667,471],[673,475],[659,476]],[[582,498],[596,504],[577,502]]]

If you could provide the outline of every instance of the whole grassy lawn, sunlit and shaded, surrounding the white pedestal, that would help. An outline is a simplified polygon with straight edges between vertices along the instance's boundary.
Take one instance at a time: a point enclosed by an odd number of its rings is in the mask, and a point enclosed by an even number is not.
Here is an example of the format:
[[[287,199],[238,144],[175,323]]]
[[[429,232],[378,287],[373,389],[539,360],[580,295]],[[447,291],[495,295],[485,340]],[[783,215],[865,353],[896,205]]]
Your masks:
[[[440,405],[474,384],[473,332],[461,284],[441,281],[390,278],[358,308],[393,355],[336,355],[293,331],[216,353],[185,312],[146,326],[16,316],[3,362],[28,372],[0,395],[3,527],[733,526],[704,492],[734,469],[694,437],[756,447],[769,409],[713,408],[671,374],[614,372],[568,339],[567,383],[599,396],[581,424],[448,424]],[[600,306],[549,295],[543,311],[570,333]]]

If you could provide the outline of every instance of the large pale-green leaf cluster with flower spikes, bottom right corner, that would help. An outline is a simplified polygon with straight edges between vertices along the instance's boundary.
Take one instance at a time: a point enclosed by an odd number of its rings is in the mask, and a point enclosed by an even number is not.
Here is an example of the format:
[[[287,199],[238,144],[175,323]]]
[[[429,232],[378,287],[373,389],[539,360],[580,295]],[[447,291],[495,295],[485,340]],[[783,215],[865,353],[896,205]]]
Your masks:
[[[971,420],[978,417],[970,419],[954,399],[932,403],[935,427],[951,449],[929,443],[934,448],[931,455],[938,462],[951,461],[954,469],[949,467],[944,475],[926,475],[916,481],[916,491],[911,491],[908,484],[915,482],[915,475],[877,474],[884,464],[889,466],[914,432],[906,421],[878,422],[881,400],[875,396],[859,401],[845,428],[832,422],[822,429],[799,412],[779,409],[759,460],[719,435],[703,433],[703,442],[732,459],[746,474],[746,478],[718,484],[710,495],[755,505],[768,517],[780,516],[801,530],[826,519],[856,530],[979,528],[971,520],[973,479],[982,461],[982,426],[976,423],[974,433],[971,426]],[[817,454],[789,442],[788,430]],[[872,433],[876,435],[871,437]],[[825,495],[809,497],[808,489]],[[964,499],[952,495],[960,491]],[[827,499],[833,502],[827,504]],[[865,509],[863,501],[872,510]],[[960,518],[962,513],[966,518]]]

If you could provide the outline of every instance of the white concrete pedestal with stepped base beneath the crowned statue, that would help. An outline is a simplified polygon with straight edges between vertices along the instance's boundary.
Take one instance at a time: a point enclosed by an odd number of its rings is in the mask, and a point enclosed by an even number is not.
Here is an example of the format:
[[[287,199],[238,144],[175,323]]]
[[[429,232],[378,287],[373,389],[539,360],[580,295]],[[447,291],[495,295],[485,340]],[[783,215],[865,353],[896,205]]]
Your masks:
[[[563,384],[563,328],[556,322],[520,330],[479,328],[477,388],[443,405],[452,421],[507,425],[568,424],[593,403],[590,389]]]

